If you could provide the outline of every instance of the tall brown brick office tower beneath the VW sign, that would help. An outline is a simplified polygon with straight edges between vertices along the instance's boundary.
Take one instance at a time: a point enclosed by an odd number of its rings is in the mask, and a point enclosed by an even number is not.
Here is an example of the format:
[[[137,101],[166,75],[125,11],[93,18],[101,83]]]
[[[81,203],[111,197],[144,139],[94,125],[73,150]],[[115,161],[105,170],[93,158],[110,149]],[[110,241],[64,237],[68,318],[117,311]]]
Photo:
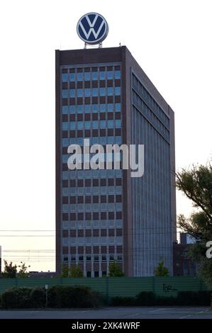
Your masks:
[[[69,170],[67,147],[144,147],[144,175]],[[56,264],[104,276],[116,260],[126,276],[172,274],[176,239],[174,112],[127,47],[56,50]]]

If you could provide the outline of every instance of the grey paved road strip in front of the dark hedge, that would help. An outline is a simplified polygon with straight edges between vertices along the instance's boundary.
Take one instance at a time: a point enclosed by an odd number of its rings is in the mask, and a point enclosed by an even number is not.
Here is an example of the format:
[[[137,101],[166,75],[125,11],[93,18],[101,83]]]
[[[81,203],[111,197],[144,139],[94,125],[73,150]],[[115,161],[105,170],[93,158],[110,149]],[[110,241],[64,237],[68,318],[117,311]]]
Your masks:
[[[212,319],[210,307],[104,307],[99,310],[0,310],[0,319]]]

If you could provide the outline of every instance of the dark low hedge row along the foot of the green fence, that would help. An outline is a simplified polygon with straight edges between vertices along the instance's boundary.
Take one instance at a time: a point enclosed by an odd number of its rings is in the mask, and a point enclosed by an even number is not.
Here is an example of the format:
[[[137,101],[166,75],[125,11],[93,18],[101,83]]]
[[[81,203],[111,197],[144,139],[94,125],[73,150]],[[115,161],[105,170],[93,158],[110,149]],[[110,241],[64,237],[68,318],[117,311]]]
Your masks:
[[[0,306],[4,308],[45,307],[45,288],[10,288],[0,295]],[[155,293],[142,291],[134,298],[111,298],[113,306],[209,306],[211,292],[179,291],[177,297],[162,297]],[[52,286],[48,290],[48,307],[100,307],[104,297],[87,286]]]

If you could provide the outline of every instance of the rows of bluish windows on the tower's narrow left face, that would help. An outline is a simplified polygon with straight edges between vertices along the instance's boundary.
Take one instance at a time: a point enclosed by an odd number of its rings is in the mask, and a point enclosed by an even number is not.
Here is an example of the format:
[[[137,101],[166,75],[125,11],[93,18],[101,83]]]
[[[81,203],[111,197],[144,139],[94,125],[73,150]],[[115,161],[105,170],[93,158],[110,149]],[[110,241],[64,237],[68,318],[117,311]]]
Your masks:
[[[61,111],[63,262],[82,263],[85,276],[102,276],[110,261],[123,261],[123,174],[71,171],[67,147],[83,146],[84,138],[90,145],[121,145],[120,64],[61,67]]]

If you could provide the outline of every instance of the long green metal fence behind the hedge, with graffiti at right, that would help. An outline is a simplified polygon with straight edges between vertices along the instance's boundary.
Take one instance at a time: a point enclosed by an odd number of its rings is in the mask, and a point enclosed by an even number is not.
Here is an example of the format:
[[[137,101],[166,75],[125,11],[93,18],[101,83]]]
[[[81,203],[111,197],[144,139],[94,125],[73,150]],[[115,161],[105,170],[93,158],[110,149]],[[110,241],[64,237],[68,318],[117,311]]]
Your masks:
[[[207,290],[208,288],[199,278],[186,276],[172,276],[166,278],[0,278],[0,293],[11,287],[35,287],[82,285],[103,293],[110,299],[116,296],[132,297],[140,291],[153,291],[157,295],[166,297],[177,295],[180,290]]]

